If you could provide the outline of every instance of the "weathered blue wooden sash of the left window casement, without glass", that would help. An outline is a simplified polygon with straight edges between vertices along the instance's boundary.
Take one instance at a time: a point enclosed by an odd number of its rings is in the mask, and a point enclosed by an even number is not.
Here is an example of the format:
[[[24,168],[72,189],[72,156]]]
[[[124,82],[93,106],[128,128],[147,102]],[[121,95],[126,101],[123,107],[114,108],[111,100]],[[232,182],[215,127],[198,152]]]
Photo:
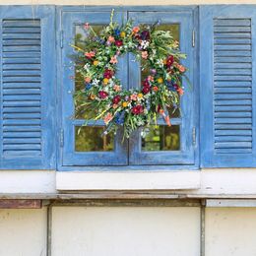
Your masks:
[[[70,55],[74,54],[70,43],[72,43],[75,36],[74,25],[84,24],[85,22],[91,25],[103,25],[109,23],[110,11],[108,12],[89,12],[81,10],[80,12],[60,12],[61,24],[60,28],[63,31],[63,48],[61,52],[61,62],[59,62],[59,74],[61,74],[61,112],[62,119],[60,122],[63,128],[64,144],[61,147],[61,165],[71,166],[88,166],[88,165],[126,165],[127,156],[127,142],[121,143],[122,134],[119,131],[115,136],[114,151],[113,152],[76,152],[75,151],[75,126],[84,124],[84,120],[76,120],[74,116],[73,92],[74,81],[70,79],[74,76],[74,70],[70,69]],[[126,20],[126,13],[116,12],[114,19],[121,23]],[[122,75],[119,74],[122,81],[126,80],[127,84],[127,61],[124,59],[120,61],[122,68]],[[100,126],[102,121],[89,122],[88,125]]]

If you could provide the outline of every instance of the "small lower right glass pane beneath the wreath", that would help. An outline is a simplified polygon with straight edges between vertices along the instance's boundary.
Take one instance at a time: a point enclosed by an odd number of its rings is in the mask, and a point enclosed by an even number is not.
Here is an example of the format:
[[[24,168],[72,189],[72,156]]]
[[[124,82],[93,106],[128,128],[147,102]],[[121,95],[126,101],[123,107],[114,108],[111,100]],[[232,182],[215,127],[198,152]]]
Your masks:
[[[179,125],[155,125],[150,132],[142,138],[142,151],[178,151],[180,150]]]

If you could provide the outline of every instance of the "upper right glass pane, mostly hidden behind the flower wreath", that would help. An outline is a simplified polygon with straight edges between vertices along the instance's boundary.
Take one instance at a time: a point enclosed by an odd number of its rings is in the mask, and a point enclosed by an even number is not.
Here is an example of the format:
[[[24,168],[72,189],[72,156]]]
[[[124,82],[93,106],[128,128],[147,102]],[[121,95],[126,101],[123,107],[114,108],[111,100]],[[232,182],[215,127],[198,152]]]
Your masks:
[[[179,41],[179,25],[178,24],[162,24],[158,27],[159,31],[169,31],[172,33],[173,39]],[[141,62],[142,66],[145,66],[145,60],[142,60]],[[145,68],[144,70],[141,70],[141,81],[143,82],[148,76],[150,72],[148,68]],[[170,108],[169,110],[169,116],[172,118],[180,117],[180,111],[179,109],[173,109]]]

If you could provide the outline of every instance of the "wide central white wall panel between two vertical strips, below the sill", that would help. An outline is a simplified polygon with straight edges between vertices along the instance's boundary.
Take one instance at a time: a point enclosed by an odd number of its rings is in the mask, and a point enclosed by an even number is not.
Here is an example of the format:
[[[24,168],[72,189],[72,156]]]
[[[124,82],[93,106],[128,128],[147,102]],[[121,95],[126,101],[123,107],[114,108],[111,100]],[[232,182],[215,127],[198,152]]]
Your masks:
[[[52,256],[199,256],[199,208],[54,207]]]

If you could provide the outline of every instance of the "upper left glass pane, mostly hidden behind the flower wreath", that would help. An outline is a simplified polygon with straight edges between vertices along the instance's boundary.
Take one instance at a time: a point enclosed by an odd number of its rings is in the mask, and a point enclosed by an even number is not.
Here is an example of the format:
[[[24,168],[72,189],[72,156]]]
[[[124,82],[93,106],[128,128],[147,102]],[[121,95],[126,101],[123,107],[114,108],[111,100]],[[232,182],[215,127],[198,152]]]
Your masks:
[[[103,25],[91,25],[95,32],[99,32],[104,27]],[[75,26],[75,45],[84,48],[85,38],[88,36],[88,31],[84,29],[84,25]],[[75,91],[83,90],[85,88],[84,79],[80,73],[75,70]],[[87,101],[85,96],[79,96],[75,103],[75,118],[76,119],[92,119],[95,116],[95,112],[92,112],[92,107],[88,105],[90,101]]]

